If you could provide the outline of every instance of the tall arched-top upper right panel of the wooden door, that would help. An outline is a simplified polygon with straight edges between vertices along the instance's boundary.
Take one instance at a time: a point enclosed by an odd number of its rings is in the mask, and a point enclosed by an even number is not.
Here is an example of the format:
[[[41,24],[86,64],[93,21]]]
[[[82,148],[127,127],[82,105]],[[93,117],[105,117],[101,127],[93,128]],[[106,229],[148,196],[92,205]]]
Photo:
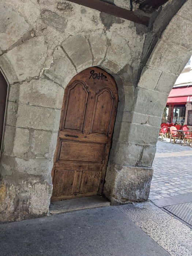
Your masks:
[[[102,90],[96,97],[96,107],[93,120],[93,133],[108,135],[114,98],[108,90]]]

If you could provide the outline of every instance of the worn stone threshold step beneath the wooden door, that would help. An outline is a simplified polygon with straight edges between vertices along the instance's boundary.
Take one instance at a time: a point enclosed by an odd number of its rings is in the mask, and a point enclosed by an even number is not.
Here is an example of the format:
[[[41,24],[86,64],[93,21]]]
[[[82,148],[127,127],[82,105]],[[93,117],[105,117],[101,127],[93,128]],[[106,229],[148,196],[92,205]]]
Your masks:
[[[62,212],[78,211],[90,208],[109,206],[110,202],[101,196],[87,196],[63,201],[51,202],[49,206],[50,214]]]

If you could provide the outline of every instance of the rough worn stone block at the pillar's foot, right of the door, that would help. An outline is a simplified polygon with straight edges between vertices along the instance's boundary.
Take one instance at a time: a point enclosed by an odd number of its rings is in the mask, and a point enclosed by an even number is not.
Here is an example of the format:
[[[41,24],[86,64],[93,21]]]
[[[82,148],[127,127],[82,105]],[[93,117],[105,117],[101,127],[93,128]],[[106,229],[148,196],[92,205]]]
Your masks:
[[[104,195],[112,205],[146,201],[152,176],[153,168],[151,167],[109,164],[103,189]]]

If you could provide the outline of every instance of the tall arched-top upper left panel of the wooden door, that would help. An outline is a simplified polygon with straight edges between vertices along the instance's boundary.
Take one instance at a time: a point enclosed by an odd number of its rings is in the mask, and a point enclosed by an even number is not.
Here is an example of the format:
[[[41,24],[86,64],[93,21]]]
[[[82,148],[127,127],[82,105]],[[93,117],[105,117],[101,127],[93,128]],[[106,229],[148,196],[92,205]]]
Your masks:
[[[67,102],[67,111],[64,120],[64,129],[83,131],[89,93],[83,84],[76,83],[70,90]]]

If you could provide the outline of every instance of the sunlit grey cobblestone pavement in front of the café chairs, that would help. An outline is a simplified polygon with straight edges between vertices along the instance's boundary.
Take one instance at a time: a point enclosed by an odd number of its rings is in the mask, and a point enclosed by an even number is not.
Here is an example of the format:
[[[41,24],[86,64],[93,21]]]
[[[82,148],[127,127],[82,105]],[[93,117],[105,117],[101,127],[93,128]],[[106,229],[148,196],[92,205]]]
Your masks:
[[[192,192],[192,147],[157,142],[150,200]]]

